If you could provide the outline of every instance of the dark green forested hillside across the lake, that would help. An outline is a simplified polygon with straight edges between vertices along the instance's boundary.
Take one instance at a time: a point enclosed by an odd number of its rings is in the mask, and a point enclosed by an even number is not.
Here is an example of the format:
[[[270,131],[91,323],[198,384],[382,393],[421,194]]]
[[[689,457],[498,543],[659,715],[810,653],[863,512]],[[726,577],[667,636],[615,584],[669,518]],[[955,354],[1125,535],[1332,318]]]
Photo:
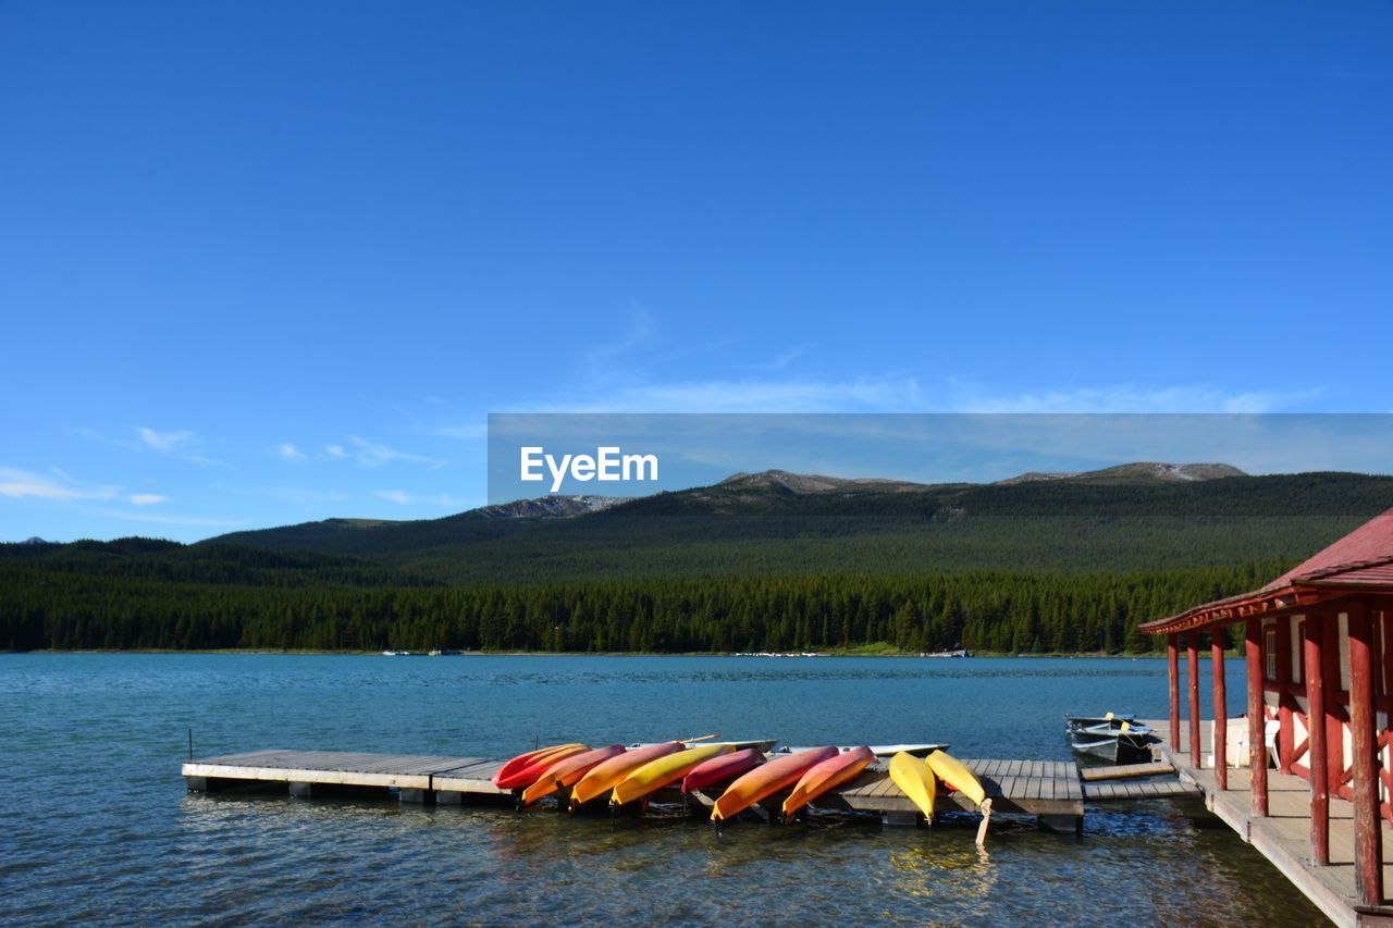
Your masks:
[[[758,475],[755,475],[758,477]],[[1351,474],[754,478],[566,517],[0,545],[0,648],[1138,651],[1393,507]]]

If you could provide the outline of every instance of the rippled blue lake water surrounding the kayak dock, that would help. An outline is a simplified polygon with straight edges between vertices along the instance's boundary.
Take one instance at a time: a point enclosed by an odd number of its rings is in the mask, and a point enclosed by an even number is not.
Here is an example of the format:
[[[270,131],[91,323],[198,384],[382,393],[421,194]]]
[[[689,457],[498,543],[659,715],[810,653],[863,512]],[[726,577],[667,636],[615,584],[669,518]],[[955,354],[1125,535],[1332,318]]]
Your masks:
[[[1241,663],[1227,673],[1241,712]],[[507,757],[719,732],[1070,759],[1063,713],[1106,709],[1163,718],[1165,662],[0,655],[0,921],[1322,920],[1192,800],[1089,808],[1082,837],[999,817],[979,854],[967,818],[717,833],[676,815],[201,796],[178,775],[188,727],[199,755]]]

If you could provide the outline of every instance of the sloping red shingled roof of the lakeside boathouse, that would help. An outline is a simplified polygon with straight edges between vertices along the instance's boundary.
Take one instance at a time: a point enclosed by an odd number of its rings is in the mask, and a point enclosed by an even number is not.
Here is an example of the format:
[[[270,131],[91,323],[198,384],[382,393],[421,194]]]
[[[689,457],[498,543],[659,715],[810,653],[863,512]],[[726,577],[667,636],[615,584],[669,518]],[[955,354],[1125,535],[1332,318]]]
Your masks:
[[[1188,631],[1273,609],[1311,605],[1354,589],[1393,594],[1393,509],[1375,516],[1259,589],[1194,606],[1169,619],[1145,621],[1141,630],[1153,635]]]

